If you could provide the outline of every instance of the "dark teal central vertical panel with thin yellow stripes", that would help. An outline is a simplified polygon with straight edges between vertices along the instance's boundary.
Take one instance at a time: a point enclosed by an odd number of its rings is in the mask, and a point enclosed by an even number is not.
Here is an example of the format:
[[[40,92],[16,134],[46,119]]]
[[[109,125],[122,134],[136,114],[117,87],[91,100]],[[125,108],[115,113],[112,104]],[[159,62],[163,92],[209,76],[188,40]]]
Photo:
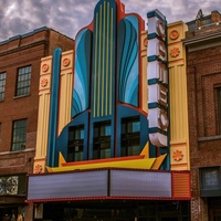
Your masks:
[[[92,117],[114,114],[115,109],[116,3],[99,1],[94,11]]]

